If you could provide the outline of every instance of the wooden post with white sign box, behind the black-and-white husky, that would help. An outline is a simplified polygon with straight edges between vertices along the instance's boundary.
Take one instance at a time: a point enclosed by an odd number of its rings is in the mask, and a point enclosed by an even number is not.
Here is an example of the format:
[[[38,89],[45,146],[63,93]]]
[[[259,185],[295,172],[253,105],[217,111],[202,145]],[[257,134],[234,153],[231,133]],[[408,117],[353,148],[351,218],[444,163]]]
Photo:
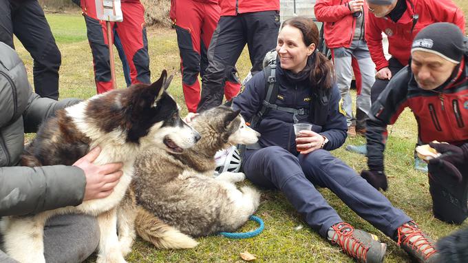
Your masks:
[[[107,44],[109,45],[109,63],[111,66],[111,82],[112,89],[117,87],[116,82],[116,67],[114,63],[114,41],[112,39],[111,22],[122,22],[122,8],[120,0],[96,0],[96,15],[99,20],[105,21],[107,31]]]

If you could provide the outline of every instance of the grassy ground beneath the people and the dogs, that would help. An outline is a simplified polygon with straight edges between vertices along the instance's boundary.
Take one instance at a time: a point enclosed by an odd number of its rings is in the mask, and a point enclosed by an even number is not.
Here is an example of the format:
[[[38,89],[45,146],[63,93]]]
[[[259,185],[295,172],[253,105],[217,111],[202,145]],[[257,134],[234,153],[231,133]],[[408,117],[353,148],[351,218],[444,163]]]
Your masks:
[[[458,4],[467,12],[466,1],[458,0]],[[89,98],[96,93],[96,87],[92,70],[92,55],[86,39],[83,17],[78,13],[49,14],[47,19],[63,56],[60,72],[61,98]],[[149,28],[150,67],[153,75],[151,78],[156,80],[163,69],[175,75],[169,92],[180,103],[182,114],[186,114],[175,38],[173,30]],[[21,59],[28,69],[30,83],[32,83],[32,60],[18,41],[16,44]],[[118,59],[116,62],[118,87],[124,87],[121,65]],[[238,61],[237,68],[241,78],[246,76],[250,69],[246,51]],[[359,144],[364,141],[362,137],[348,138],[345,145]],[[454,226],[440,222],[433,217],[427,175],[413,169],[414,143],[416,143],[416,123],[411,112],[405,111],[397,123],[389,127],[385,169],[390,187],[384,193],[385,196],[395,207],[414,218],[434,238],[443,237],[460,227],[466,227],[467,222],[462,226]],[[333,154],[356,171],[366,168],[365,158],[348,153],[344,150],[344,146],[333,151]],[[411,262],[407,254],[399,249],[390,238],[359,218],[328,189],[320,191],[343,220],[350,222],[354,227],[379,235],[379,238],[387,243],[386,262]],[[295,209],[288,204],[284,195],[277,191],[263,192],[262,204],[257,215],[264,220],[265,230],[256,238],[230,240],[210,236],[198,239],[200,245],[195,249],[179,251],[160,251],[139,239],[127,260],[129,262],[242,262],[239,253],[248,251],[257,255],[256,262],[353,262],[350,257],[340,253],[336,246],[331,246],[315,231],[307,227]],[[249,231],[253,228],[255,224],[249,222],[241,231]]]

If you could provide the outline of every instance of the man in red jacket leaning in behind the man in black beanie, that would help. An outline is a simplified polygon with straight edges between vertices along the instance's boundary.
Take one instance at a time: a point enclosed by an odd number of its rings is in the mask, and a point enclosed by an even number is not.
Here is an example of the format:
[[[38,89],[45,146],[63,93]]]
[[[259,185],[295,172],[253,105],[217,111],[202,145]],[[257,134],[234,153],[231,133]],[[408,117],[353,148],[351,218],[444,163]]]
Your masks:
[[[372,14],[365,23],[365,40],[377,71],[370,92],[372,103],[385,89],[390,78],[408,65],[412,41],[421,29],[432,23],[449,22],[465,31],[463,12],[451,0],[366,1]],[[387,35],[388,53],[392,55],[388,61],[383,54],[382,33]],[[348,145],[346,149],[367,154],[365,145]],[[427,171],[427,167],[419,165],[418,158],[415,161],[416,169]]]

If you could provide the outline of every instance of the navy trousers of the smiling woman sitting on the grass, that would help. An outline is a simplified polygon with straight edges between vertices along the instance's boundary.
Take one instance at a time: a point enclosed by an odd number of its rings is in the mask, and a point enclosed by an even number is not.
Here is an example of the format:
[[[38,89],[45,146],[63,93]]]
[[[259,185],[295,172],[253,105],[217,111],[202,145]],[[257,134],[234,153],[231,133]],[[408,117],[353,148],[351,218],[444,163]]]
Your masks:
[[[343,220],[317,191],[316,185],[330,189],[390,238],[395,238],[401,224],[412,220],[348,165],[323,149],[298,156],[277,146],[248,149],[242,165],[246,177],[255,185],[282,191],[307,224],[323,237],[332,225]]]

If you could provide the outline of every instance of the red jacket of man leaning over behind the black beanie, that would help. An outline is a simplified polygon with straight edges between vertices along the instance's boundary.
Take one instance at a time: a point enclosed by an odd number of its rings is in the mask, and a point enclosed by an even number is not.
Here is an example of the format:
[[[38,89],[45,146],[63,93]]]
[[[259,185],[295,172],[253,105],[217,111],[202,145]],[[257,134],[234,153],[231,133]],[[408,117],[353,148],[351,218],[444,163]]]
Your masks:
[[[465,32],[463,12],[451,0],[406,0],[406,3],[407,10],[396,23],[389,17],[377,18],[373,14],[369,15],[365,23],[365,40],[368,41],[370,56],[376,70],[388,67],[388,62],[383,56],[382,32],[388,36],[388,52],[402,65],[408,65],[414,36],[426,25],[450,22]],[[418,21],[411,31],[414,14],[418,14]]]

